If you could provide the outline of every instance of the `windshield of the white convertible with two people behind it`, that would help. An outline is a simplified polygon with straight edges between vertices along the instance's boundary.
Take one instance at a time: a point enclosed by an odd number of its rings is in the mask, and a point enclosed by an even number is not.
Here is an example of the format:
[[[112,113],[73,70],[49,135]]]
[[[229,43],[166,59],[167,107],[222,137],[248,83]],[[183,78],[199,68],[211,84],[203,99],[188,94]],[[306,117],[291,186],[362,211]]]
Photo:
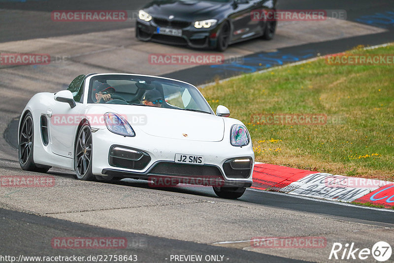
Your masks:
[[[196,87],[175,80],[138,75],[92,77],[88,103],[153,106],[213,114]]]

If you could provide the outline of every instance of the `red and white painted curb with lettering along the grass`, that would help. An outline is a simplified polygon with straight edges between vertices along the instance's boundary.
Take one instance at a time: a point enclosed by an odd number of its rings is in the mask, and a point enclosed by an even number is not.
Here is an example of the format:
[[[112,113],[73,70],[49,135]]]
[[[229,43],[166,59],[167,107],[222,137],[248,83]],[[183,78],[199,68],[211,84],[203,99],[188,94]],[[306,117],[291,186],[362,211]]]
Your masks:
[[[394,182],[255,163],[253,189],[344,202],[394,206]]]

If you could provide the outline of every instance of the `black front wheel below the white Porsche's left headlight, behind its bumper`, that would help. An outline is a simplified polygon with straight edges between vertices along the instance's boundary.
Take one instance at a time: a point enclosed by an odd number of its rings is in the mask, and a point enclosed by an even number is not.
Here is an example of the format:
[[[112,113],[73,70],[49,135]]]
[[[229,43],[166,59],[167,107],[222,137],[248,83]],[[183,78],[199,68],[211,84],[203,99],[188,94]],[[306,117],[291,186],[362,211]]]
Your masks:
[[[87,122],[82,124],[75,142],[75,175],[78,180],[94,180],[92,173],[92,130]]]

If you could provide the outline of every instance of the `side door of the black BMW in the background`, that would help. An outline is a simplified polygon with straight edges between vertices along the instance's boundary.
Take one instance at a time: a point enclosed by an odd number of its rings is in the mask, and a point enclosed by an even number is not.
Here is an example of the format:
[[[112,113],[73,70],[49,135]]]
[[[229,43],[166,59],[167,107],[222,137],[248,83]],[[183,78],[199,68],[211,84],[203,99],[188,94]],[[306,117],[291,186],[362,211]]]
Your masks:
[[[256,34],[259,21],[252,20],[252,10],[258,8],[260,0],[237,0],[232,5],[234,12],[230,15],[233,30],[231,41],[241,40]]]

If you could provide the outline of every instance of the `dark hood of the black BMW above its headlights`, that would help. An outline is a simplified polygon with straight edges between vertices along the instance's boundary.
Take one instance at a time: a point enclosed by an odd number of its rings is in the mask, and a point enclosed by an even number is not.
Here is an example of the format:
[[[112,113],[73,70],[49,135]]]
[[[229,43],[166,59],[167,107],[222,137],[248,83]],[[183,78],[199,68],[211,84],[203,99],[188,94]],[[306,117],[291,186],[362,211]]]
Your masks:
[[[197,1],[197,0],[164,0],[153,1],[144,6],[144,10],[153,17],[165,18],[173,15],[174,20],[196,21],[212,19],[227,9],[229,2]]]

